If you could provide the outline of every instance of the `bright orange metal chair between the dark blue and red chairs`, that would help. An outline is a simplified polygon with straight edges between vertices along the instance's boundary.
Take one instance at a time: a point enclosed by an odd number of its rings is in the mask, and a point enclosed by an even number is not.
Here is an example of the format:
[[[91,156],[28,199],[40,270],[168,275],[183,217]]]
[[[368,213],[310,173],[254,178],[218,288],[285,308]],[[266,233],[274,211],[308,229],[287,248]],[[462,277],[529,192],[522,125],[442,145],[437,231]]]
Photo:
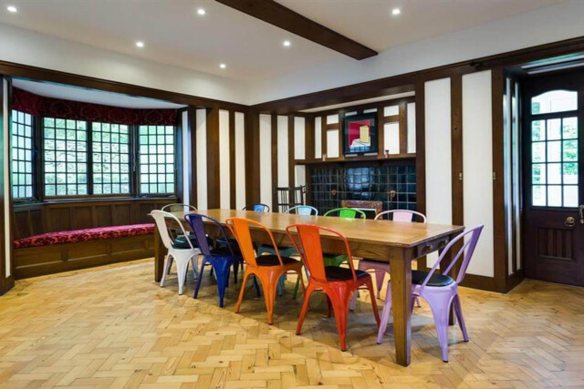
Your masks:
[[[225,224],[233,232],[235,240],[239,244],[239,248],[244,257],[245,264],[247,265],[245,266],[244,282],[242,283],[241,292],[239,292],[239,299],[235,305],[235,313],[239,313],[239,307],[244,299],[245,282],[247,281],[247,277],[255,275],[255,277],[261,282],[262,289],[264,290],[267,323],[272,324],[274,303],[276,302],[276,290],[280,277],[288,271],[296,272],[300,279],[300,283],[302,284],[302,290],[305,291],[304,281],[302,279],[302,262],[289,257],[282,257],[280,252],[277,251],[276,241],[274,241],[274,235],[272,235],[272,232],[265,225],[258,223],[255,220],[231,218],[225,220]],[[270,237],[270,241],[272,241],[274,252],[276,252],[275,255],[255,256],[250,224],[266,231],[267,235]]]

